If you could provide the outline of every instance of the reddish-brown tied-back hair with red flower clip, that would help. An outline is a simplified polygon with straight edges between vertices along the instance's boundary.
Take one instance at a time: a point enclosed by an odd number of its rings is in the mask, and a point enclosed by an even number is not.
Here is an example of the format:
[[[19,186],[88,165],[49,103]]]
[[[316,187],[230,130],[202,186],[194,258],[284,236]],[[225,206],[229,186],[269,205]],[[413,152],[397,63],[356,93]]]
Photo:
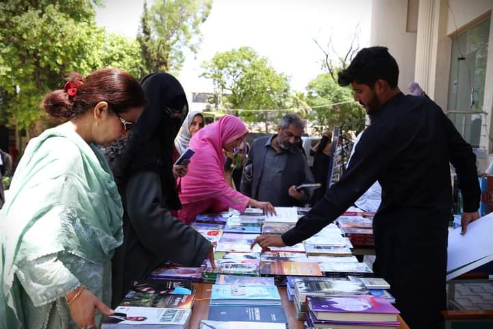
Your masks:
[[[114,113],[143,107],[147,101],[140,83],[120,69],[101,69],[86,78],[73,72],[62,89],[45,95],[42,107],[55,119],[73,119],[94,108],[100,101],[108,102]]]

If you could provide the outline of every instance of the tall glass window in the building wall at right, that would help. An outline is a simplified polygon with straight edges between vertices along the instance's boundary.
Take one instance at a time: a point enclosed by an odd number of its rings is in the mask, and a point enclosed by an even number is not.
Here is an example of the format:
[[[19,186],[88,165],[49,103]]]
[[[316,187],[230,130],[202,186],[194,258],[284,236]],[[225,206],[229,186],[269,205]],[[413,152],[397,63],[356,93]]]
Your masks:
[[[452,39],[448,117],[464,139],[479,147],[490,19]]]

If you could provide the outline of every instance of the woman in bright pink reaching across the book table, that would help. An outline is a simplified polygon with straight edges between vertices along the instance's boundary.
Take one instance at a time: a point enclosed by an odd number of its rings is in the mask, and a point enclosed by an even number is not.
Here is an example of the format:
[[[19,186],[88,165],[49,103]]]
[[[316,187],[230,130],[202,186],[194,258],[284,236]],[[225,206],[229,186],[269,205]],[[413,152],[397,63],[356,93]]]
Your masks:
[[[270,202],[259,202],[242,195],[225,180],[224,151],[231,152],[240,147],[247,134],[247,127],[240,119],[225,115],[192,137],[190,148],[195,154],[188,174],[181,179],[179,197],[183,209],[178,215],[181,221],[188,224],[199,214],[216,213],[229,207],[244,212],[247,206],[253,206],[275,213]]]

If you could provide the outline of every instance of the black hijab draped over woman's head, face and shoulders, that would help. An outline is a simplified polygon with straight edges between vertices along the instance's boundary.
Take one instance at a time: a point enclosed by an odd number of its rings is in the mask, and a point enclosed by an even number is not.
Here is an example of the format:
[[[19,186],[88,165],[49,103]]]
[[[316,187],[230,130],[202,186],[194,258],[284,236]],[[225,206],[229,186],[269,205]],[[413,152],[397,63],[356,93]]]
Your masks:
[[[173,143],[188,113],[183,87],[168,73],[152,73],[141,81],[147,106],[130,136],[103,149],[118,188],[139,171],[155,171],[161,178],[162,192],[169,208],[179,209],[173,176]],[[170,117],[173,112],[181,114]]]

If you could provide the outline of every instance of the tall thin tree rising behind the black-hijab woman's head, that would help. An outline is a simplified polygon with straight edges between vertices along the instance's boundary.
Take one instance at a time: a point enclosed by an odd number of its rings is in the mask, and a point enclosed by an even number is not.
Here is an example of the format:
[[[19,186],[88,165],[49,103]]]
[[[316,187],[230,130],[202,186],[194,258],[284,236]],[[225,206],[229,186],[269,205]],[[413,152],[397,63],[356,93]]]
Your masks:
[[[210,14],[212,0],[156,0],[140,19],[137,40],[147,72],[177,73],[186,50],[197,53],[201,43],[200,25]]]

